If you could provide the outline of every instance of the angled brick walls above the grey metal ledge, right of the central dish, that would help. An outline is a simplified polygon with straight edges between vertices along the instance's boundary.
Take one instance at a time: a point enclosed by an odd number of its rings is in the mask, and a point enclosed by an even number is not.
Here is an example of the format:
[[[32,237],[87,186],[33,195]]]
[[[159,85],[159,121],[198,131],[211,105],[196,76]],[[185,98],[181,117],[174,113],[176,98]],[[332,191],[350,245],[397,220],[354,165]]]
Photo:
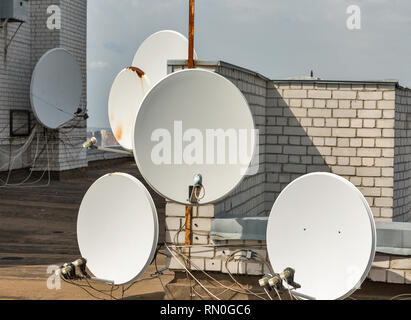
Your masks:
[[[403,186],[407,174],[397,170],[394,177],[394,158],[400,147],[397,124],[401,125],[395,117],[410,105],[410,90],[394,82],[270,81],[225,63],[206,68],[242,91],[260,130],[259,171],[216,204],[217,217],[266,216],[291,181],[325,171],[358,187],[377,220],[409,220],[406,205],[397,207],[409,203],[409,189]],[[405,105],[400,107],[396,100]],[[408,134],[404,130],[401,134]],[[408,148],[401,150],[406,154],[396,161],[404,162]],[[407,164],[397,167],[403,170]]]

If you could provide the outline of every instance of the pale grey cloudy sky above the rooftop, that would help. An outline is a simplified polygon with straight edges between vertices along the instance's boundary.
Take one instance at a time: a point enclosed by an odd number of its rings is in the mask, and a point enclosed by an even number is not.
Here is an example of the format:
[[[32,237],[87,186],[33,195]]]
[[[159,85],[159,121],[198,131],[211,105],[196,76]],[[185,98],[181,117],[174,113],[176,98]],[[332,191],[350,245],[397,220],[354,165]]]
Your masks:
[[[361,28],[350,30],[350,5]],[[195,49],[272,78],[396,79],[411,87],[409,0],[197,0]],[[188,0],[88,0],[89,127],[109,127],[116,75],[159,30],[188,33]]]

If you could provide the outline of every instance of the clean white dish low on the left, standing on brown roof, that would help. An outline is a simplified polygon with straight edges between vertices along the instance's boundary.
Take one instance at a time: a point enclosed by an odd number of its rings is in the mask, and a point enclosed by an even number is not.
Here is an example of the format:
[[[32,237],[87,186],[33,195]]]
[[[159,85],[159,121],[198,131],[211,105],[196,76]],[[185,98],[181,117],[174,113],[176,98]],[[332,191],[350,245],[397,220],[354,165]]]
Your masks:
[[[77,240],[97,278],[123,285],[140,277],[158,241],[157,211],[144,185],[124,173],[98,179],[81,203]]]

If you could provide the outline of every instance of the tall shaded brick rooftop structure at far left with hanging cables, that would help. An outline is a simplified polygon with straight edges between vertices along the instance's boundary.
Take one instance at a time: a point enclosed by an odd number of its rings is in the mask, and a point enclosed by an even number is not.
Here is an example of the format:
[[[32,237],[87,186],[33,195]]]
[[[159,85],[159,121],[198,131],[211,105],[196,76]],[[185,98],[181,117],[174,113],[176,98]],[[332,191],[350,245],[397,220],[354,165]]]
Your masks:
[[[60,27],[48,23],[50,6],[60,9]],[[33,168],[60,172],[86,167],[81,144],[86,139],[87,122],[76,119],[60,130],[39,125],[31,111],[30,82],[40,57],[50,49],[64,48],[81,66],[83,94],[79,108],[87,109],[87,1],[31,0],[26,10],[27,20],[22,24],[1,21],[0,34],[7,41],[0,43],[0,171]],[[13,132],[16,129],[17,134]],[[19,134],[22,131],[23,136]]]

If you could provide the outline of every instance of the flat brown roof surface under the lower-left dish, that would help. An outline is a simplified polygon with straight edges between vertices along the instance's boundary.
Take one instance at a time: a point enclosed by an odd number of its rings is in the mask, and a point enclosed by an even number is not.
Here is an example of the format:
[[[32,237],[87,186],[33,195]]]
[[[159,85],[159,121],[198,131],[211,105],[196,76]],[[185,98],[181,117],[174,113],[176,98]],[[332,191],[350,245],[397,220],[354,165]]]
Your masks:
[[[132,174],[144,181],[133,159],[124,158],[92,162],[86,171],[80,172],[80,175],[66,177],[61,181],[52,180],[48,187],[2,189],[0,299],[93,299],[79,287],[65,283],[62,284],[62,290],[47,289],[46,281],[50,276],[47,274],[47,267],[80,257],[76,240],[76,220],[81,200],[96,179],[118,171]],[[18,181],[24,174],[17,172],[13,174],[13,178]],[[150,192],[160,218],[159,242],[163,242],[165,201],[151,189]],[[158,268],[165,265],[163,255],[158,256],[157,263]],[[152,264],[146,274],[127,291],[125,298],[164,299],[164,290],[159,280],[152,277],[155,270]],[[170,271],[165,271],[162,277],[165,284],[173,278],[174,273]],[[247,281],[244,277],[241,279]],[[248,281],[255,282],[255,279]],[[96,286],[99,289],[104,288],[104,285]],[[353,298],[387,299],[402,293],[403,285],[367,281]],[[119,292],[114,296],[119,298]],[[107,298],[101,294],[97,297]]]

